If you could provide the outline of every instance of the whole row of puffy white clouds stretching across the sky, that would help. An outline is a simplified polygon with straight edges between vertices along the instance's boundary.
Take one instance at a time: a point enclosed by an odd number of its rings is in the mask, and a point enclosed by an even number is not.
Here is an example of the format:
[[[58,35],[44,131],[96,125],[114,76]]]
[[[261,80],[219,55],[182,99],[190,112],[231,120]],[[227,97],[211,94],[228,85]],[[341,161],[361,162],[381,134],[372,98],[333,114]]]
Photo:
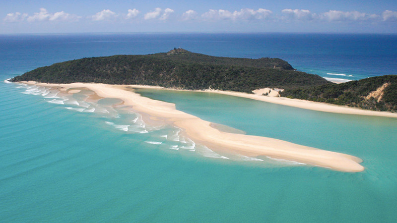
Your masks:
[[[3,17],[3,22],[18,23],[18,22],[77,22],[81,20],[89,20],[95,22],[120,22],[123,20],[130,21],[263,21],[263,22],[319,22],[319,23],[343,23],[343,22],[359,22],[359,23],[382,23],[382,22],[397,22],[397,11],[385,10],[381,14],[371,14],[359,11],[339,11],[329,10],[322,13],[314,13],[308,9],[282,9],[279,13],[274,13],[271,10],[259,8],[242,8],[240,10],[229,11],[225,9],[209,9],[206,12],[199,14],[199,12],[189,9],[181,14],[174,15],[173,18],[177,20],[170,20],[170,16],[175,11],[171,8],[154,8],[141,15],[136,8],[128,9],[126,13],[115,12],[110,9],[103,9],[89,16],[79,16],[75,14],[59,11],[50,13],[45,8],[40,8],[39,12],[31,15],[21,12],[8,13]]]

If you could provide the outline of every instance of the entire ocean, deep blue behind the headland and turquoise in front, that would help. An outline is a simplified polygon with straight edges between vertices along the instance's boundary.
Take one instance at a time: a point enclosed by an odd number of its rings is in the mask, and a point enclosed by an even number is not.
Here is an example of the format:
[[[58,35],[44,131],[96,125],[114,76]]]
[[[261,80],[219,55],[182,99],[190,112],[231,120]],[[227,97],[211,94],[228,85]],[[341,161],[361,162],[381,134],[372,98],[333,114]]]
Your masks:
[[[153,54],[279,57],[337,80],[397,74],[396,35],[0,36],[1,222],[395,222],[397,119],[213,93],[138,90],[250,135],[350,154],[363,172],[222,154],[117,99],[5,81],[70,59]],[[335,80],[335,79],[331,79]]]

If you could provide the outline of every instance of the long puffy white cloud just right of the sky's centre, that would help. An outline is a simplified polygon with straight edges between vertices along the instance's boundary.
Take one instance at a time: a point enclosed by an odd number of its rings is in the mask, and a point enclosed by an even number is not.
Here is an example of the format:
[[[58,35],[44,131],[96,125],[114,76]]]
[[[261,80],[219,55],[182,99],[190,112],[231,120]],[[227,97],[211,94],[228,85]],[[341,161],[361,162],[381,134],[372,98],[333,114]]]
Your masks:
[[[202,18],[206,20],[252,20],[252,19],[266,19],[272,15],[272,11],[260,8],[258,10],[254,10],[251,8],[243,8],[240,11],[230,12],[228,10],[213,10],[209,9],[209,11],[205,12],[201,15]]]

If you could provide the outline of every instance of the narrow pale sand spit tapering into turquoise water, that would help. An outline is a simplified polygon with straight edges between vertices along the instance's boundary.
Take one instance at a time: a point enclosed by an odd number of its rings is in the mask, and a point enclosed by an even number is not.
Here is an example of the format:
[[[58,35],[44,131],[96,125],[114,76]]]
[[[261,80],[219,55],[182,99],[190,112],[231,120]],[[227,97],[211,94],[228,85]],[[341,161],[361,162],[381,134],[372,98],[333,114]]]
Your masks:
[[[184,129],[192,140],[207,145],[212,149],[235,151],[251,156],[269,156],[339,171],[358,172],[364,170],[364,167],[359,164],[362,160],[354,156],[297,145],[278,139],[219,131],[213,128],[208,121],[176,110],[174,104],[142,97],[127,90],[126,87],[128,86],[92,83],[24,83],[62,87],[64,90],[69,88],[87,88],[100,97],[119,98],[125,102],[125,105],[132,106],[138,112],[162,118],[166,122]]]

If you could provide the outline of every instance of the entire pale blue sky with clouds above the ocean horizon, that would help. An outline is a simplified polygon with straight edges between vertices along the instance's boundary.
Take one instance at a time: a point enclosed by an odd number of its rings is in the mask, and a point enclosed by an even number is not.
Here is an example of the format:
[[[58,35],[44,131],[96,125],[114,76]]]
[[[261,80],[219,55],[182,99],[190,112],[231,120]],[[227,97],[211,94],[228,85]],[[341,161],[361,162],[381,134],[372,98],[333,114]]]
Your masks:
[[[397,0],[0,0],[0,34],[397,33]]]

